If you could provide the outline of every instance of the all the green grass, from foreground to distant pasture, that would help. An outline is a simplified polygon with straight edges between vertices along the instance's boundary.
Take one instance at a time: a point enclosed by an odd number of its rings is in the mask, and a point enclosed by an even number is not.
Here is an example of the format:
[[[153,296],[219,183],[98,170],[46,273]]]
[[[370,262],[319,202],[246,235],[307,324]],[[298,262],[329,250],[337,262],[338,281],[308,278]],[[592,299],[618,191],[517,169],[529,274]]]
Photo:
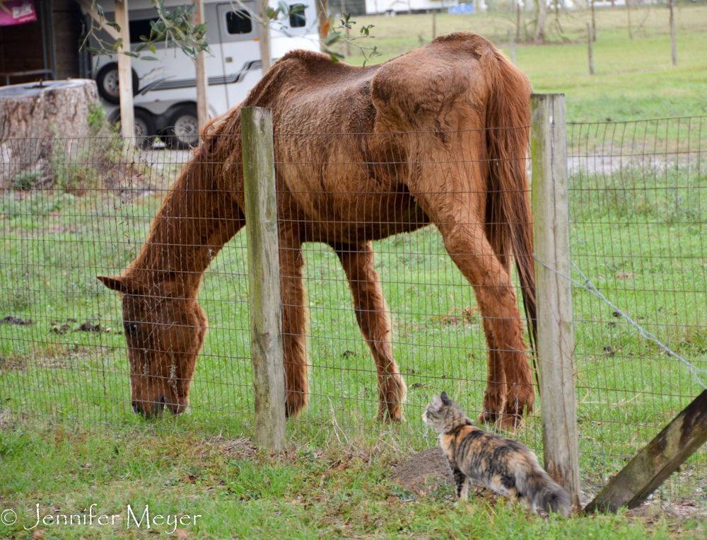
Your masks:
[[[682,8],[679,21],[687,29],[681,30],[679,47],[693,43],[707,50],[707,33],[697,31],[705,15],[702,6]],[[404,19],[376,18],[379,48],[390,47],[391,56],[404,52],[395,47],[402,49],[411,39],[416,46],[417,30],[409,21],[417,19]],[[445,16],[437,24],[438,32],[458,29],[445,27]],[[399,38],[394,47],[395,32],[402,28],[411,38]],[[616,28],[600,33],[597,54],[603,43],[604,59],[615,64],[611,73],[601,74],[597,62],[600,75],[594,78],[578,63],[583,45],[519,47],[518,64],[536,90],[565,91],[568,117],[574,120],[705,114],[707,60],[685,52],[677,69],[651,66],[665,38],[652,28],[648,37],[637,32],[633,41]],[[576,30],[568,23],[565,31]],[[627,50],[640,69],[626,68]],[[653,161],[622,161],[617,154],[608,156],[608,168],[592,161],[592,154],[612,149],[642,154],[640,143],[648,135],[640,130],[653,133],[654,126],[655,133],[665,132],[660,137],[669,151]],[[571,154],[590,156],[572,169],[572,257],[609,299],[705,368],[707,176],[701,154],[695,153],[703,154],[704,136],[692,129],[686,137],[684,124],[670,122],[643,128],[631,125],[626,134],[625,125],[609,125],[600,137],[593,126],[570,137]],[[683,148],[691,153],[674,153]],[[127,504],[149,504],[163,514],[198,512],[204,517],[199,525],[185,527],[197,538],[704,537],[703,524],[655,510],[561,523],[484,497],[455,506],[445,490],[418,498],[390,482],[391,464],[436,444],[418,420],[431,394],[445,389],[474,418],[485,387],[486,346],[474,297],[433,228],[375,243],[395,357],[409,386],[402,425],[373,420],[375,370],[344,273],[333,251],[308,244],[310,409],[288,422],[290,448],[281,459],[254,454],[247,440],[231,440],[250,436],[253,410],[243,233],[227,244],[204,278],[200,301],[211,330],[189,413],[152,421],[134,415],[119,298],[98,285],[95,275],[120,272],[144,241],[160,190],[183,158],[155,154],[161,163],[143,172],[144,183],[156,189],[133,196],[100,185],[86,193],[2,194],[0,319],[31,318],[33,324],[0,323],[0,511],[11,508],[21,518],[14,526],[0,524],[0,537],[30,536],[21,524],[29,523],[27,512],[37,503],[43,512],[57,514],[80,512],[94,502],[99,514],[124,516]],[[580,466],[590,498],[701,388],[684,366],[580,289],[574,310]],[[103,331],[79,331],[86,322],[100,323]],[[539,416],[527,418],[514,436],[541,452]],[[658,498],[668,507],[686,502],[703,515],[706,474],[707,454],[701,450]],[[80,533],[44,527],[42,534],[132,538],[148,532],[124,529],[121,522],[115,529],[82,527]]]

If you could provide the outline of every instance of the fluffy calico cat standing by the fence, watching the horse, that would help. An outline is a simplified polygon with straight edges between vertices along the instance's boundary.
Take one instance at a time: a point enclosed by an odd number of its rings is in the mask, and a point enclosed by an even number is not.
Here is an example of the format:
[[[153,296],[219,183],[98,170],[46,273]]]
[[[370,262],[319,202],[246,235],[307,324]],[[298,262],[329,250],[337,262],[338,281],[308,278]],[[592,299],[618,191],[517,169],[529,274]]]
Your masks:
[[[457,497],[469,498],[469,483],[476,480],[501,495],[522,498],[532,512],[541,508],[568,516],[569,493],[542,469],[525,444],[480,430],[445,392],[435,394],[422,421],[440,434]]]

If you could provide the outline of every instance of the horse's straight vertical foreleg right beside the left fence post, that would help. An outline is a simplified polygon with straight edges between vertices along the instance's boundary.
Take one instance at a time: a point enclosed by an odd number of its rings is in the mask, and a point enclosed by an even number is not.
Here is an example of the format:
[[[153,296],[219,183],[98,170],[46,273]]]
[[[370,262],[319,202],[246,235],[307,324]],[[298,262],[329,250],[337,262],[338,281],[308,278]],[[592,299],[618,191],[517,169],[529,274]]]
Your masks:
[[[282,301],[282,350],[285,368],[285,410],[296,418],[307,406],[307,326],[305,287],[302,282],[302,243],[295,231],[280,231],[280,297]]]

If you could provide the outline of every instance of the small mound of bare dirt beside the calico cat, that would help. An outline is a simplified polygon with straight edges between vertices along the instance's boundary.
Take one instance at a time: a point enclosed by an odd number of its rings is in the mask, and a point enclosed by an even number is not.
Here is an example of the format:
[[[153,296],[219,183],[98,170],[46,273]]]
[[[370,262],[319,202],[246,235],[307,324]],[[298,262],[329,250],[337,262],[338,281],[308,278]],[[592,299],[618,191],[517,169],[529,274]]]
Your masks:
[[[454,484],[449,461],[440,447],[418,452],[403,461],[393,469],[391,479],[421,496]]]

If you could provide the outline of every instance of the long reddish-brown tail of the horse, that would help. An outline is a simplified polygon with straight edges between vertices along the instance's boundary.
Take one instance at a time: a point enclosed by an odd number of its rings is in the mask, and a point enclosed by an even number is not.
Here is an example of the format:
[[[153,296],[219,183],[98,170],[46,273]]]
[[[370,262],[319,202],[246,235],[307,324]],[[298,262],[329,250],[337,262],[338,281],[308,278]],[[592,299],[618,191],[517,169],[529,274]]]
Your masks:
[[[489,159],[489,200],[486,223],[491,236],[501,234],[515,257],[525,304],[530,345],[537,343],[532,215],[525,156],[530,137],[530,81],[495,47],[481,55],[489,83],[486,144]]]

